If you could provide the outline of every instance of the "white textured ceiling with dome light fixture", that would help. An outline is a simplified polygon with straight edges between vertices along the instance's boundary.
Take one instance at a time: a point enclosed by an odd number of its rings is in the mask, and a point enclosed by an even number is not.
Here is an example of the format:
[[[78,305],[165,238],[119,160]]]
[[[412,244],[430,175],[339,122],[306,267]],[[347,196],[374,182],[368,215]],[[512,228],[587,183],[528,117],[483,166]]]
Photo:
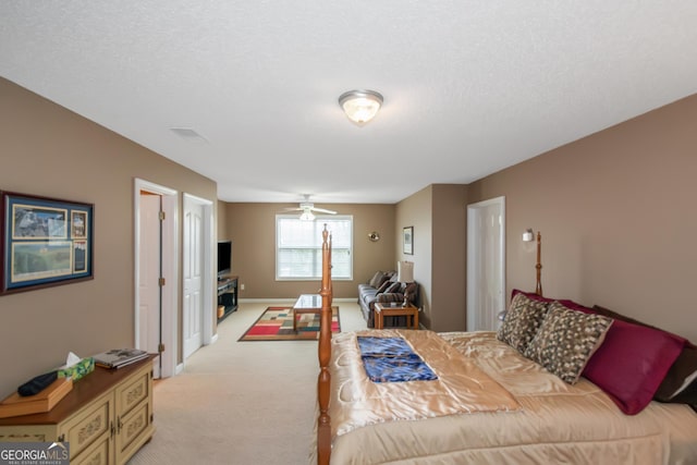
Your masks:
[[[223,200],[395,203],[694,94],[696,25],[695,0],[3,0],[0,75]],[[384,96],[363,127],[353,88]]]

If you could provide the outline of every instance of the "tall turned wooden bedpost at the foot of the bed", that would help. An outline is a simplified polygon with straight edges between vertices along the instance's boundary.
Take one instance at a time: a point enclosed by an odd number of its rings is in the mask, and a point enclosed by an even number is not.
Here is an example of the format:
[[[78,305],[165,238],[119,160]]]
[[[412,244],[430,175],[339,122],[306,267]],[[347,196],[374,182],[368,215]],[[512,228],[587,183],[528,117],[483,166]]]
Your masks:
[[[331,319],[332,319],[332,286],[331,286],[331,236],[327,224],[322,231],[322,309],[319,323],[319,377],[317,379],[317,400],[319,417],[317,418],[317,463],[328,465],[331,455],[331,418],[329,417],[329,392],[331,376],[329,362],[331,359]]]

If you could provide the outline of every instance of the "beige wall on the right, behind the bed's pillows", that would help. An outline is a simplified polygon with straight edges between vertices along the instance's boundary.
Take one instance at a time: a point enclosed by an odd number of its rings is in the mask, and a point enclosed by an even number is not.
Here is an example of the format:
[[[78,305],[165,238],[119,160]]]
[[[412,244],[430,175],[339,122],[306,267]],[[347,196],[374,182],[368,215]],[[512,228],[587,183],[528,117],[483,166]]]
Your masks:
[[[504,195],[506,287],[603,305],[697,341],[697,96],[469,185],[468,201]],[[510,295],[510,294],[509,294]]]

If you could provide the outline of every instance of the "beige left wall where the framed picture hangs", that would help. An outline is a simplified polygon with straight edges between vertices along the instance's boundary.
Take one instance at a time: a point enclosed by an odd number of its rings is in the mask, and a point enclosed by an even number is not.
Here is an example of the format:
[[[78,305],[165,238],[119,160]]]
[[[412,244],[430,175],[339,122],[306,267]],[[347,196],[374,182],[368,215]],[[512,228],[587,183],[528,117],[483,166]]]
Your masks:
[[[0,296],[5,396],[69,351],[134,344],[134,178],[210,200],[217,186],[2,78],[0,101],[0,189],[95,205],[94,280]]]

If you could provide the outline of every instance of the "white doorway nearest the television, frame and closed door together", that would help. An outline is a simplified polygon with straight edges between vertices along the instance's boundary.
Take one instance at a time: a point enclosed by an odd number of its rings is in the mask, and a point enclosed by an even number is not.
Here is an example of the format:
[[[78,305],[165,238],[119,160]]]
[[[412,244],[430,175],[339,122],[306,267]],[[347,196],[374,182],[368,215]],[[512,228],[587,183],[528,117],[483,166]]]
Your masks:
[[[212,201],[184,194],[182,341],[184,360],[210,344],[212,302]]]

